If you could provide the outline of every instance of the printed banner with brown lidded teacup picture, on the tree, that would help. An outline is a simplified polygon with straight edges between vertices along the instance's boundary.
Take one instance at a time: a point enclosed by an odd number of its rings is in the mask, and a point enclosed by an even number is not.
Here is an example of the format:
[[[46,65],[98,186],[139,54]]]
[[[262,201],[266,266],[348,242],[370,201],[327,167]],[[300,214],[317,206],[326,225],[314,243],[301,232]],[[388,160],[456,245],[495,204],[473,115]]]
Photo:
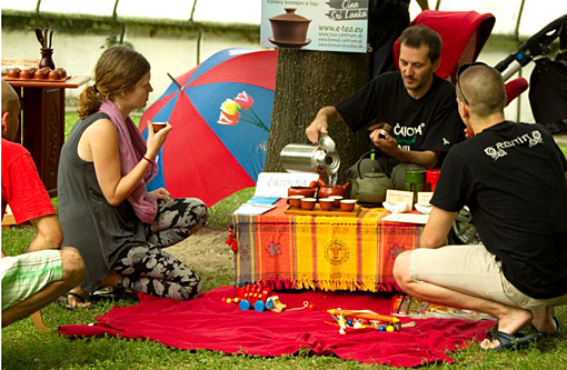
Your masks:
[[[367,52],[368,0],[262,0],[260,46]]]

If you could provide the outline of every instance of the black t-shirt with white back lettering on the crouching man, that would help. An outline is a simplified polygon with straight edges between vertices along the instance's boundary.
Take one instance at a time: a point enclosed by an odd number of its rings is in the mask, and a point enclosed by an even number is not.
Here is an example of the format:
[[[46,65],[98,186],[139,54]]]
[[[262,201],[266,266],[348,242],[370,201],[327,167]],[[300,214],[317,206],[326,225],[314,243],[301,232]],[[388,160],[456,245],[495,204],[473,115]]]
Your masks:
[[[447,154],[431,204],[470,208],[486,249],[525,294],[567,293],[567,161],[540,124],[501,122]]]

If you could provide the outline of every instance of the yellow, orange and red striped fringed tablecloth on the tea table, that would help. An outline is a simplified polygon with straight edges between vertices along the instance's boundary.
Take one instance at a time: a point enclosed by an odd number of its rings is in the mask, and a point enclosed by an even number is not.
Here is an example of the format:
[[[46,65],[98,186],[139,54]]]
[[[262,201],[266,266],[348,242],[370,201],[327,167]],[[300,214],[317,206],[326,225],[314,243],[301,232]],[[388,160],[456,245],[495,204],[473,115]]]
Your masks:
[[[418,247],[422,226],[382,221],[382,208],[354,217],[288,216],[286,200],[261,216],[232,216],[236,284],[275,289],[390,291],[394,260]]]

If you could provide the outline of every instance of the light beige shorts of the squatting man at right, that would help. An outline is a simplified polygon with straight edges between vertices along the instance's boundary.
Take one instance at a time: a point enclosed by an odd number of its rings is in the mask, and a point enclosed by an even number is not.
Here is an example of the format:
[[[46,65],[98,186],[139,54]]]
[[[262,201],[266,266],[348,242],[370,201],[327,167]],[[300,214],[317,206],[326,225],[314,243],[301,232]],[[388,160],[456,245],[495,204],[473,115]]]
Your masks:
[[[501,262],[483,244],[412,250],[409,270],[414,281],[429,282],[526,310],[567,304],[567,294],[553,299],[524,294],[504,277]]]

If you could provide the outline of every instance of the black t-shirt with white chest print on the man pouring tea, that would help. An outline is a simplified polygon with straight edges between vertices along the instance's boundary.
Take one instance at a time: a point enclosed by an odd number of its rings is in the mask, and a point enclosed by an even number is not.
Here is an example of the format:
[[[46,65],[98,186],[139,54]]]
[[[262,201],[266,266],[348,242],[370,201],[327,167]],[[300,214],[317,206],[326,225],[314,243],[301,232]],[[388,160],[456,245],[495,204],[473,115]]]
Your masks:
[[[409,96],[399,72],[388,72],[336,108],[355,132],[375,119],[391,124],[392,137],[406,150],[446,152],[464,139],[465,126],[457,110],[455,87],[435,74],[431,88],[420,99]]]

